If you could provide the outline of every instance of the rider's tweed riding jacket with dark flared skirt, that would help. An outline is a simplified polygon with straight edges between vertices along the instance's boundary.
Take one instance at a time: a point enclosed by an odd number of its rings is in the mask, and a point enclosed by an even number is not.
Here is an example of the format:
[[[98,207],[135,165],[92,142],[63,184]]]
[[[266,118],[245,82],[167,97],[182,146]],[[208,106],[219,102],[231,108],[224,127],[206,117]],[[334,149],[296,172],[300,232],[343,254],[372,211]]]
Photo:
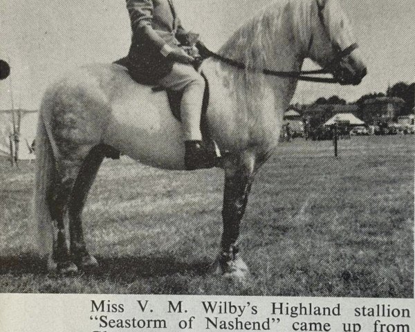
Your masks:
[[[131,19],[131,74],[141,82],[155,83],[172,71],[173,62],[160,53],[165,44],[186,44],[187,33],[176,16],[172,0],[127,0]]]

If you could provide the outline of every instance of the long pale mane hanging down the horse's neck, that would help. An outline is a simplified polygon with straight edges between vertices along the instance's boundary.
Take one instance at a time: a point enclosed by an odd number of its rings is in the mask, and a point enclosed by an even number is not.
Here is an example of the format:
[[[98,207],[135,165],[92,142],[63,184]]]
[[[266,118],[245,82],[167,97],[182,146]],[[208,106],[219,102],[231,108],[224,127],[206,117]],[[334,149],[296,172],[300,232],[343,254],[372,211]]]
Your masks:
[[[304,45],[306,47],[310,40],[312,1],[315,0],[272,1],[242,24],[228,42],[220,48],[219,54],[242,62],[248,68],[299,70],[302,59],[297,59],[295,55],[304,48]],[[291,67],[287,67],[288,63]],[[230,66],[222,66],[220,62],[217,62],[216,66],[221,66],[218,73],[225,73],[223,77],[232,77],[234,92],[239,104],[246,105],[245,109],[239,109],[239,121],[251,122],[251,127],[257,130],[264,129],[268,125],[266,124],[268,120],[260,119],[257,113],[257,108],[262,107],[264,102],[270,106],[267,106],[267,109],[273,116],[275,109],[278,109],[277,112],[281,113],[279,118],[282,119],[284,104],[291,100],[292,95],[282,92],[282,95],[290,100],[274,100],[273,107],[270,105],[270,90],[266,86],[279,82],[277,84],[282,84],[284,87],[278,86],[273,91],[282,91],[286,89],[288,81],[275,81],[277,79],[273,77],[261,75],[249,69],[243,71]],[[294,91],[295,85],[289,86],[288,89]],[[271,125],[272,122],[269,123]]]

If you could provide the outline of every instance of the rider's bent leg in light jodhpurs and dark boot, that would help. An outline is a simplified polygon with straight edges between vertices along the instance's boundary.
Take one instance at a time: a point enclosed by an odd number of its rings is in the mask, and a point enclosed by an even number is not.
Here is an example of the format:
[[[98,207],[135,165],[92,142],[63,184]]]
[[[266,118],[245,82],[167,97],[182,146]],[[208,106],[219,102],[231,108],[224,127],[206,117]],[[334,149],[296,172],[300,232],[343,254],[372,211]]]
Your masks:
[[[185,64],[174,64],[172,72],[159,84],[167,89],[183,90],[181,120],[185,138],[185,165],[187,169],[209,168],[216,163],[215,156],[207,154],[201,144],[200,129],[205,80],[194,68]]]

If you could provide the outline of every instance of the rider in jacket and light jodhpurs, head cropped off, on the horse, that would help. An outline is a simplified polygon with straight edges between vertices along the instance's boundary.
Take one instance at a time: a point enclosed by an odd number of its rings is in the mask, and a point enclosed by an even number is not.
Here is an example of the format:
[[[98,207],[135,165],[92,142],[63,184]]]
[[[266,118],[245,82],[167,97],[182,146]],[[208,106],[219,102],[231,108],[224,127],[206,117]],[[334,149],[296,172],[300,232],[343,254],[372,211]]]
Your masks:
[[[195,34],[183,29],[172,0],[127,0],[127,9],[133,30],[128,55],[132,75],[141,82],[183,91],[185,167],[214,167],[216,154],[203,147],[200,130],[205,80],[192,66],[195,58],[181,48],[192,46]]]

